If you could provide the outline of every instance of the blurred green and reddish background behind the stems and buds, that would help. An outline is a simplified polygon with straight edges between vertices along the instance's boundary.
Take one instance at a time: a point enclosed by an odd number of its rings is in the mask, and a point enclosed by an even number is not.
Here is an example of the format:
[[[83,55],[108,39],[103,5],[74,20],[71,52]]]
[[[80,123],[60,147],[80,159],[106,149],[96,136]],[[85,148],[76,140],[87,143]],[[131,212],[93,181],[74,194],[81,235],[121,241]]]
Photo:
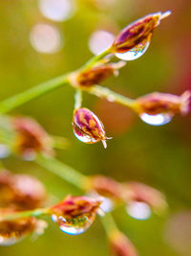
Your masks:
[[[152,91],[180,94],[190,88],[190,0],[78,0],[74,5],[69,19],[53,21],[43,15],[42,3],[40,6],[37,0],[0,2],[0,99],[80,67],[93,56],[89,45],[95,31],[115,35],[138,17],[167,10],[172,15],[156,29],[147,53],[128,62],[118,78],[111,78],[104,85],[132,98]],[[32,40],[36,43],[32,33],[36,25],[43,24],[51,25],[53,31],[49,34],[49,27],[46,35],[47,27],[40,27],[44,28],[45,37],[39,39],[39,51],[32,44]],[[38,42],[41,35],[36,36]],[[52,53],[42,53],[43,43],[53,36],[57,45],[52,47]],[[51,46],[47,47],[49,50]],[[84,95],[84,105],[93,109],[104,123],[107,135],[113,137],[107,150],[100,143],[85,145],[75,139],[71,126],[74,89],[69,86],[23,105],[11,114],[30,115],[51,134],[69,138],[70,148],[57,151],[57,158],[81,173],[110,175],[118,181],[137,180],[162,191],[170,205],[166,217],[152,215],[149,220],[137,221],[124,209],[117,209],[114,215],[118,226],[137,246],[141,256],[190,256],[191,115],[176,117],[158,128],[144,124],[125,107],[91,95]],[[80,195],[73,186],[31,162],[13,157],[4,162],[14,173],[38,177],[55,200],[67,194]],[[103,256],[109,255],[107,246],[98,220],[79,236],[66,235],[49,221],[49,228],[36,241],[27,238],[19,244],[1,246],[0,255]]]

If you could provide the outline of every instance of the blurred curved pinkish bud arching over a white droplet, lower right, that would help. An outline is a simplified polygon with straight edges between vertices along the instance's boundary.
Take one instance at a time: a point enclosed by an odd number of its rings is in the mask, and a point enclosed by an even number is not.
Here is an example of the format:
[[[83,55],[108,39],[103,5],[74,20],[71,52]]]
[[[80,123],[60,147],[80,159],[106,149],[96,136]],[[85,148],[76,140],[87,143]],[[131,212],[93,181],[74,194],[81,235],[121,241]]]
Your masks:
[[[157,214],[167,209],[164,196],[156,189],[138,182],[128,182],[123,185],[121,198],[129,204],[131,202],[144,202]]]

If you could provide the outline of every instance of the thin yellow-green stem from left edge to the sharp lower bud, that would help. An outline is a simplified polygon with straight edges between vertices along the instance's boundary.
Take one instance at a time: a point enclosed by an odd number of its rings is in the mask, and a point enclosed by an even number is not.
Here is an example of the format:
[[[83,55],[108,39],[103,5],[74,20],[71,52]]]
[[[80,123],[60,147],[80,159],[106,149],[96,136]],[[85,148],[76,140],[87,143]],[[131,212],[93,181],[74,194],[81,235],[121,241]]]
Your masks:
[[[23,211],[12,214],[3,214],[0,216],[0,221],[11,221],[26,217],[39,217],[48,214],[49,208],[34,209],[31,211]]]

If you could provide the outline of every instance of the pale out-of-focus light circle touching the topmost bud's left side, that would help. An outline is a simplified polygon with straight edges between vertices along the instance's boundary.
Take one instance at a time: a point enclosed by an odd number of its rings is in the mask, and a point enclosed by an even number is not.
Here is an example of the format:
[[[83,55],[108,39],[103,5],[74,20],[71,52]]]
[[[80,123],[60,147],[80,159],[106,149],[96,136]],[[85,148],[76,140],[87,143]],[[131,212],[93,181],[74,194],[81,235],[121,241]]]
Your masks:
[[[91,52],[98,55],[108,49],[114,42],[115,35],[107,31],[96,31],[89,39]]]

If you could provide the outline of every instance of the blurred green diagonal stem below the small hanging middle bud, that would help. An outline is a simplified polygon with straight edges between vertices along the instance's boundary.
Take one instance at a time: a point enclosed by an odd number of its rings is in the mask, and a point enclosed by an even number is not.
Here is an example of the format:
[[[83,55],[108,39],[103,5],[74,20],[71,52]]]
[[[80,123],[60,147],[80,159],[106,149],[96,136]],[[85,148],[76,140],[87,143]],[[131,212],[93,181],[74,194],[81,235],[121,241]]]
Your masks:
[[[85,184],[88,182],[88,177],[86,175],[78,173],[72,167],[59,162],[55,158],[47,157],[41,154],[37,156],[35,162],[79,189],[83,190]]]

